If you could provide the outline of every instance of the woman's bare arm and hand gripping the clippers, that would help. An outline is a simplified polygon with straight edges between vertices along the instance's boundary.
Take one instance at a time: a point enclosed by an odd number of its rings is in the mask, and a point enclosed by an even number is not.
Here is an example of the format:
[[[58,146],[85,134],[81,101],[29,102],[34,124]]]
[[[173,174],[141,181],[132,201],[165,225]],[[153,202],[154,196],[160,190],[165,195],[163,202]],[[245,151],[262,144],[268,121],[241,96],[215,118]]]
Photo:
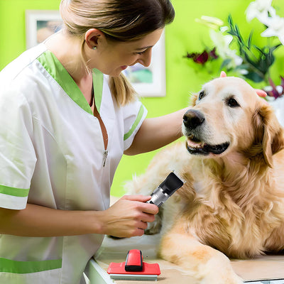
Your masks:
[[[69,211],[27,204],[26,209],[0,208],[0,234],[16,236],[73,236],[109,234],[119,237],[141,236],[147,222],[158,213],[151,197],[121,197],[104,211]]]

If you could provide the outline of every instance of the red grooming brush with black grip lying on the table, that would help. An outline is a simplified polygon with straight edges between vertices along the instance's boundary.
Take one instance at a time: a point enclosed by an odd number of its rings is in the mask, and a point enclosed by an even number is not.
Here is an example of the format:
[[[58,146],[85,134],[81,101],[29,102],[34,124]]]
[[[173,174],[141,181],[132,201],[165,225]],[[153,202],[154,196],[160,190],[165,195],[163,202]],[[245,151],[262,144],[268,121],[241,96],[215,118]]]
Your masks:
[[[131,249],[127,253],[126,261],[111,262],[107,273],[114,280],[156,281],[160,275],[160,266],[158,263],[143,262],[141,251]]]

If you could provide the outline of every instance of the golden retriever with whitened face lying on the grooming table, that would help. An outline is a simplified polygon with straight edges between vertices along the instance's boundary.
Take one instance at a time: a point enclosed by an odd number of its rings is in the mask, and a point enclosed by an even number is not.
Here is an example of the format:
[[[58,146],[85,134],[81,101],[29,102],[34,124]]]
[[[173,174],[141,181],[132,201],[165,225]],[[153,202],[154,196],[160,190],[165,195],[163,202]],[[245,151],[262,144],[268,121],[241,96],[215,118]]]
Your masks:
[[[224,77],[204,84],[182,132],[186,143],[155,155],[145,175],[127,188],[150,194],[175,170],[186,183],[147,231],[157,233],[163,221],[160,257],[200,283],[242,283],[228,257],[284,249],[283,129],[249,84]]]

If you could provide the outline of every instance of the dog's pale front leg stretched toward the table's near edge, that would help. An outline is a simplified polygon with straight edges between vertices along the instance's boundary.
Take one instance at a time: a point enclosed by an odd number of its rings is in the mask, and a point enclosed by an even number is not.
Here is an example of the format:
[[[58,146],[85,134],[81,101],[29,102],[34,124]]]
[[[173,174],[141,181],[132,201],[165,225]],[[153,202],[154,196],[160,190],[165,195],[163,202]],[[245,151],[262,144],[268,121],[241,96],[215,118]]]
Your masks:
[[[201,244],[187,233],[183,224],[175,224],[160,244],[159,256],[173,262],[202,284],[240,284],[229,258],[211,246]]]

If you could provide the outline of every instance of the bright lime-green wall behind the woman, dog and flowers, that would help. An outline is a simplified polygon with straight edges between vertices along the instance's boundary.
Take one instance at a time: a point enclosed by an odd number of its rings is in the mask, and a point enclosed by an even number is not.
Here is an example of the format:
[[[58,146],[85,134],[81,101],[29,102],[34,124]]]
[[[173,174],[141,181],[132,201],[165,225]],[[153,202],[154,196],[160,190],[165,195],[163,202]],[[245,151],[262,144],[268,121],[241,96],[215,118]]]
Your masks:
[[[205,45],[212,45],[208,28],[196,23],[195,18],[202,15],[216,16],[226,22],[228,14],[231,13],[244,35],[248,35],[252,27],[257,34],[261,27],[258,21],[247,23],[244,16],[249,2],[251,0],[173,0],[176,18],[165,31],[167,95],[160,98],[142,98],[148,109],[148,117],[168,114],[186,107],[190,93],[197,92],[204,82],[219,75],[217,65],[209,69],[202,68],[182,58],[187,51],[200,52],[204,50]],[[280,8],[280,16],[284,16],[283,2],[273,1],[273,5]],[[0,0],[0,70],[26,49],[25,10],[55,10],[58,9],[59,3],[60,0]],[[258,40],[263,41],[261,38]],[[276,54],[278,62],[273,67],[274,72],[284,71],[283,50]],[[134,174],[143,173],[154,154],[155,151],[124,156],[114,177],[111,193],[122,195],[124,181],[130,180]]]

